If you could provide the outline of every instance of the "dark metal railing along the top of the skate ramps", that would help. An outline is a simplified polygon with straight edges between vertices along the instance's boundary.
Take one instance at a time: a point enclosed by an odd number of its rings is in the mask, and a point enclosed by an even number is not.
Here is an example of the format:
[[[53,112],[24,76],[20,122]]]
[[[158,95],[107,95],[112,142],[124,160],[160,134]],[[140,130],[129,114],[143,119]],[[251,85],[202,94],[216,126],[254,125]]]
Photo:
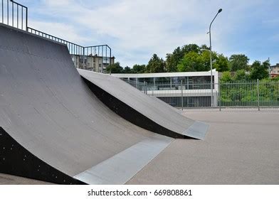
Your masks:
[[[112,64],[112,50],[108,45],[93,45],[93,46],[82,46],[76,43],[66,41],[64,39],[52,36],[48,33],[43,33],[34,28],[28,27],[28,7],[17,3],[13,0],[0,0],[1,9],[0,23],[19,28],[23,31],[28,31],[36,36],[48,38],[58,43],[67,45],[70,55],[72,56],[73,63],[76,68],[90,68],[91,58],[102,58],[102,65]],[[88,61],[90,60],[90,61]],[[93,59],[94,60],[94,59]],[[92,68],[92,67],[91,67]]]

